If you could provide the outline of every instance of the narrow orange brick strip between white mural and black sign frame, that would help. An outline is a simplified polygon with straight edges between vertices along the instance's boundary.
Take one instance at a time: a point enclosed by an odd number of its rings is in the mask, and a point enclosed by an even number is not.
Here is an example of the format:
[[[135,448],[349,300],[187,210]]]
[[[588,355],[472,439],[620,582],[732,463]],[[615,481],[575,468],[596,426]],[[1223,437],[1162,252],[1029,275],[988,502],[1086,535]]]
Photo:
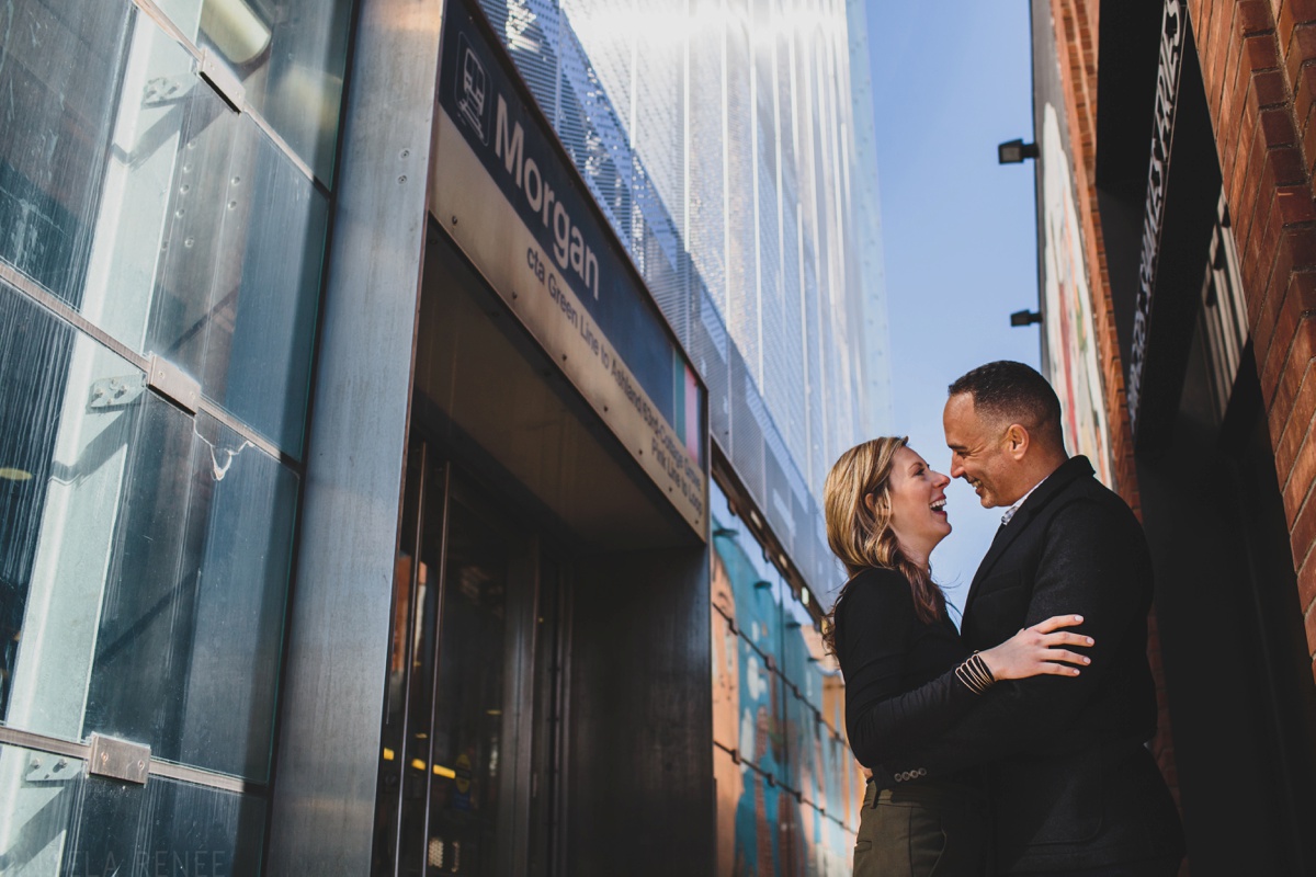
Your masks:
[[[1149,3],[1152,0],[1148,0]],[[1313,0],[1316,4],[1316,0]],[[1098,354],[1105,392],[1105,413],[1111,425],[1111,456],[1116,486],[1124,501],[1141,519],[1138,479],[1133,460],[1133,434],[1129,427],[1129,408],[1124,394],[1124,363],[1120,356],[1119,337],[1115,330],[1115,309],[1111,301],[1111,281],[1107,272],[1105,242],[1096,200],[1096,71],[1099,0],[1051,0],[1051,18],[1055,25],[1055,46],[1065,91],[1065,112],[1070,130],[1070,149],[1074,158],[1074,184],[1076,188],[1079,221],[1083,225],[1083,243],[1087,250],[1088,288],[1092,291],[1092,314],[1098,337]],[[1316,33],[1313,33],[1316,36]],[[1146,120],[1150,125],[1150,118]],[[1313,394],[1316,401],[1316,394]],[[1157,685],[1159,722],[1152,742],[1166,782],[1179,799],[1179,782],[1174,764],[1174,740],[1170,734],[1170,714],[1166,710],[1165,675],[1161,665],[1161,640],[1155,613],[1148,619],[1148,657]],[[1183,873],[1187,873],[1184,865]]]

